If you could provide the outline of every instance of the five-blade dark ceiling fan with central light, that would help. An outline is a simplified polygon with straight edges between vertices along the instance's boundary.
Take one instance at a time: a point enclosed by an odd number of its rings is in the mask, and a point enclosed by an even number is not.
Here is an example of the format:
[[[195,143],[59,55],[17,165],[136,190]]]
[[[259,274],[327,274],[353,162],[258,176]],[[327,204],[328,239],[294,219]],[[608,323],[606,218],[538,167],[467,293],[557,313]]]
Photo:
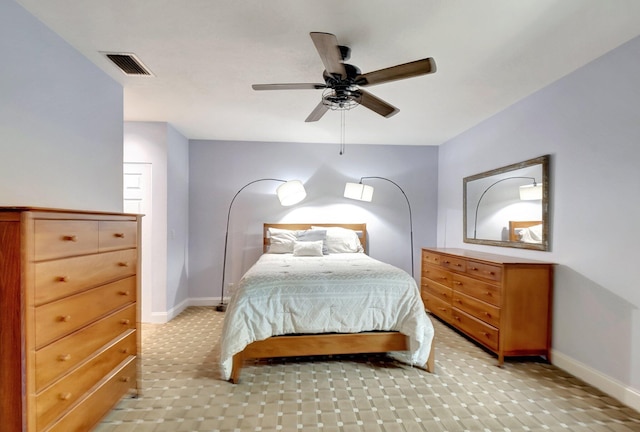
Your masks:
[[[325,70],[322,73],[324,84],[254,84],[254,90],[320,90],[322,100],[309,114],[305,122],[314,122],[322,118],[329,109],[346,110],[362,105],[380,114],[391,117],[400,110],[360,87],[383,84],[405,78],[427,75],[436,71],[435,61],[429,57],[409,63],[392,66],[369,73],[361,73],[356,66],[345,63],[349,60],[351,49],[338,45],[338,39],[331,33],[311,32],[311,40],[316,46]]]

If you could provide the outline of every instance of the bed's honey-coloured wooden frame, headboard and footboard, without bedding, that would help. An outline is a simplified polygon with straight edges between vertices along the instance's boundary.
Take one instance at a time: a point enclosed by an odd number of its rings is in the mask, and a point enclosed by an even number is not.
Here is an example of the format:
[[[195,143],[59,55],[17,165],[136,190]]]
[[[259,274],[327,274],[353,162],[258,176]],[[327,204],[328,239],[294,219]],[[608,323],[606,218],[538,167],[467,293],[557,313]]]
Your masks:
[[[269,247],[267,231],[270,227],[290,230],[309,229],[311,226],[339,226],[359,233],[360,243],[367,251],[366,224],[264,224],[263,244],[266,252]],[[311,335],[273,336],[253,342],[240,353],[233,356],[230,381],[238,383],[240,371],[245,360],[274,357],[303,357],[314,355],[368,354],[409,350],[409,337],[395,331],[363,333],[329,333]],[[435,370],[435,349],[431,351],[427,363],[423,366],[427,372]]]

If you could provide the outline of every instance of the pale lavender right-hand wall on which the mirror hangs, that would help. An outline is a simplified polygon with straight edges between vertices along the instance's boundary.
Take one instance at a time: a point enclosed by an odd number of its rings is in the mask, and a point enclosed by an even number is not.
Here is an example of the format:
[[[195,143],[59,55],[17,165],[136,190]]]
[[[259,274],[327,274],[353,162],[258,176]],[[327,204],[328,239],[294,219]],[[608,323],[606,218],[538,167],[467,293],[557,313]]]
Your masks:
[[[554,362],[640,407],[640,38],[440,148],[438,244],[557,263]],[[462,242],[462,178],[551,154],[550,252]]]

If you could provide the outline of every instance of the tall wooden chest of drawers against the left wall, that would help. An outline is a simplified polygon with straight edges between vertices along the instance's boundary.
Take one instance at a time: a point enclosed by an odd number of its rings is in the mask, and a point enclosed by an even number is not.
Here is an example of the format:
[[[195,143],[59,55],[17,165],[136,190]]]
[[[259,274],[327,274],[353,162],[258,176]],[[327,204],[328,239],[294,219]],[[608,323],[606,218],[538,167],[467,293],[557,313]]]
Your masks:
[[[0,429],[88,431],[138,391],[140,216],[0,208]]]

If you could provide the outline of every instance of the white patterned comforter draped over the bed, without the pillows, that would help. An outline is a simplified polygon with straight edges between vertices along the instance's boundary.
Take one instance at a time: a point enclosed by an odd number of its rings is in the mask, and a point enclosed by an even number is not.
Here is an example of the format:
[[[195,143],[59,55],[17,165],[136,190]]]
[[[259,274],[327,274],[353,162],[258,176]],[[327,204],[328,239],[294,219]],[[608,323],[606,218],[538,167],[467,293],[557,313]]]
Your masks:
[[[362,253],[295,257],[264,254],[237,284],[224,320],[221,368],[249,343],[292,333],[399,331],[410,351],[406,363],[426,363],[433,326],[415,280]]]

